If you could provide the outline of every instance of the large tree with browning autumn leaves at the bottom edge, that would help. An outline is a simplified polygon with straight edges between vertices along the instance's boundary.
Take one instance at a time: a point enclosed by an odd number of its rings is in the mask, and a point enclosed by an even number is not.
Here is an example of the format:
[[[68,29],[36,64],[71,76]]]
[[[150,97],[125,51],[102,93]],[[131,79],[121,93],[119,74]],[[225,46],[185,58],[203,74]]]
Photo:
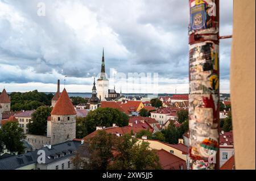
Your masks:
[[[130,134],[118,137],[105,131],[99,131],[90,140],[87,149],[89,161],[83,161],[79,158],[73,159],[73,163],[81,165],[81,169],[161,169],[159,157],[154,150],[149,148],[149,143],[138,142]],[[82,155],[83,151],[85,150],[79,150],[77,155]]]

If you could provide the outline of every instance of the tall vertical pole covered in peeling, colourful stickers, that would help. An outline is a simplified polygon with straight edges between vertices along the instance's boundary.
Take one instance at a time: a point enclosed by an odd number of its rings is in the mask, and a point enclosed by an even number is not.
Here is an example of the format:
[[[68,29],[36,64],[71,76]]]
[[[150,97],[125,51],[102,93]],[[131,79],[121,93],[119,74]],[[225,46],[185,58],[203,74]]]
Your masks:
[[[189,169],[219,169],[219,2],[189,7]]]

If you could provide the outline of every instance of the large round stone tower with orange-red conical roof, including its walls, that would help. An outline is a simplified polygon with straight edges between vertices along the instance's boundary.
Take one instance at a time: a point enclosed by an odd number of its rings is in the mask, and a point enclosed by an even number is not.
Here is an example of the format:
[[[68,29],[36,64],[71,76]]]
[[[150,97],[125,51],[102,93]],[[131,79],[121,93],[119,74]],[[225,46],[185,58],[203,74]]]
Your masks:
[[[51,137],[51,144],[59,144],[76,138],[76,110],[64,89],[51,112],[48,121],[47,136]]]

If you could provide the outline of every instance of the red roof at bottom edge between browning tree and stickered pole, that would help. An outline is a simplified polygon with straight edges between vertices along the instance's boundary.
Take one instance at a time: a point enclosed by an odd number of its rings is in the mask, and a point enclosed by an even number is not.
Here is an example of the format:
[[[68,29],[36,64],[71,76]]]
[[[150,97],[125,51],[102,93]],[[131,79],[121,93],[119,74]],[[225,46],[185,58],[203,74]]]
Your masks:
[[[186,162],[174,154],[163,149],[156,151],[156,154],[158,154],[159,162],[163,170],[180,170],[181,167],[187,170]]]

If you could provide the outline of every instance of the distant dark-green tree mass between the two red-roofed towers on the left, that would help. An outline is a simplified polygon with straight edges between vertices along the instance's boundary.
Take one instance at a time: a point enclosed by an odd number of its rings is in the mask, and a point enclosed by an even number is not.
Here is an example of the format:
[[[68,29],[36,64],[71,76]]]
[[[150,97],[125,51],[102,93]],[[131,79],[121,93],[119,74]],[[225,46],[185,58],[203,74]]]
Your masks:
[[[38,90],[29,92],[12,92],[11,97],[11,110],[36,110],[40,106],[50,106],[53,95]]]

